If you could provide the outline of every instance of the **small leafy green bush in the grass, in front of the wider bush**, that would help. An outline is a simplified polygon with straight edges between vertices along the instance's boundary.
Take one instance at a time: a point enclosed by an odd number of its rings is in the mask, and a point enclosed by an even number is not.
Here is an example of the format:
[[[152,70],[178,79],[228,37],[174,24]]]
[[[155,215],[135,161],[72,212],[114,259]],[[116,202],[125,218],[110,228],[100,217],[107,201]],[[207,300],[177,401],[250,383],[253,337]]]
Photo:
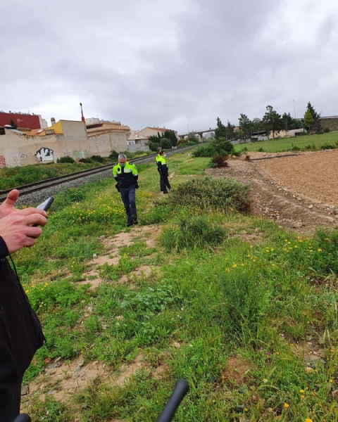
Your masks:
[[[183,250],[213,247],[223,242],[226,231],[220,225],[210,224],[206,217],[180,217],[175,228],[170,227],[161,236],[165,249]]]

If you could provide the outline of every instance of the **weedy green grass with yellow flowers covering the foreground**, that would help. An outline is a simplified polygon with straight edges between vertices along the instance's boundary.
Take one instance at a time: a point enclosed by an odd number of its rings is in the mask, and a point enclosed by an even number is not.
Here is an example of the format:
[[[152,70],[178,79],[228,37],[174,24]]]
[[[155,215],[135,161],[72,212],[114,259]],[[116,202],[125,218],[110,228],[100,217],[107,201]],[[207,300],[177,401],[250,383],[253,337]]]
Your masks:
[[[168,160],[177,191],[205,168],[206,159],[188,159]],[[42,237],[15,262],[47,339],[26,381],[56,357],[82,355],[118,371],[142,354],[142,370],[123,386],[97,378],[66,405],[30,397],[33,420],[46,407],[51,421],[155,421],[185,378],[190,391],[176,421],[336,421],[337,230],[306,238],[235,209],[174,206],[158,192],[155,163],[139,170],[139,221],[163,229],[156,246],[140,235],[120,248],[118,264],[99,267],[96,290],[77,284],[103,252],[99,236],[133,230],[105,179],[56,196]],[[118,282],[141,264],[158,272]],[[311,350],[318,359],[306,361]],[[237,376],[227,368],[234,359],[245,362]]]

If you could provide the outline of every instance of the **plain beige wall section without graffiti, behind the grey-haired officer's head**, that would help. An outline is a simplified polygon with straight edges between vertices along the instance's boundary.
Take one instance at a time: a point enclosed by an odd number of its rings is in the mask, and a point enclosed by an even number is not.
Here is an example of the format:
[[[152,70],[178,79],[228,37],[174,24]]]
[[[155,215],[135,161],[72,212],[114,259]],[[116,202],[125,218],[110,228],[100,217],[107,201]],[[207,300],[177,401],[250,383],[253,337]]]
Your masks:
[[[118,153],[127,151],[127,135],[125,133],[89,134],[88,141],[92,155],[108,157],[111,151]]]

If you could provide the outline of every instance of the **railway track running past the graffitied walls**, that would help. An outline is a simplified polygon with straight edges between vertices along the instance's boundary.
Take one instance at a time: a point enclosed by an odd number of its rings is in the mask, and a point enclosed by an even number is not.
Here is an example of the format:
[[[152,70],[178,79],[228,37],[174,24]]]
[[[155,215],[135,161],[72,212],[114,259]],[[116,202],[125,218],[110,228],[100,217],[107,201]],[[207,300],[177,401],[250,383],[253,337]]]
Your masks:
[[[192,148],[196,148],[196,146],[187,146],[180,149],[168,151],[167,155],[173,155],[175,153],[184,153],[184,151],[189,151],[189,149],[192,149]],[[151,154],[151,155],[146,155],[140,158],[134,158],[132,160],[129,160],[129,162],[134,162],[134,163],[153,162],[155,157],[156,157],[156,154]],[[58,185],[67,183],[68,181],[72,181],[75,179],[82,179],[82,177],[91,176],[92,174],[106,172],[107,170],[113,169],[113,166],[115,164],[116,163],[103,165],[101,167],[95,167],[94,169],[82,170],[81,172],[65,174],[65,176],[54,177],[53,179],[45,179],[45,180],[37,181],[35,183],[30,183],[23,186],[17,186],[11,189],[6,189],[4,191],[0,191],[0,202],[6,199],[8,192],[10,192],[12,189],[18,189],[18,191],[20,191],[20,197],[22,198],[23,196],[29,195],[30,193],[35,193],[47,188],[51,188],[53,186],[58,186]]]

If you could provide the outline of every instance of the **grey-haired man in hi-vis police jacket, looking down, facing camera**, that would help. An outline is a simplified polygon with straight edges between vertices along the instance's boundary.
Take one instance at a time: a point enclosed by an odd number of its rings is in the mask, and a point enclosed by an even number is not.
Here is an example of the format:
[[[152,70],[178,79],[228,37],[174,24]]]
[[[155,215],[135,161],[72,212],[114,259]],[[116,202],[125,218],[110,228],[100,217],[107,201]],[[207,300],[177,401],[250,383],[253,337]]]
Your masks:
[[[125,213],[127,215],[127,227],[138,224],[135,200],[135,188],[139,187],[137,179],[139,175],[134,164],[127,162],[125,154],[118,155],[118,164],[113,167],[113,177],[117,184],[115,187],[121,194]]]

